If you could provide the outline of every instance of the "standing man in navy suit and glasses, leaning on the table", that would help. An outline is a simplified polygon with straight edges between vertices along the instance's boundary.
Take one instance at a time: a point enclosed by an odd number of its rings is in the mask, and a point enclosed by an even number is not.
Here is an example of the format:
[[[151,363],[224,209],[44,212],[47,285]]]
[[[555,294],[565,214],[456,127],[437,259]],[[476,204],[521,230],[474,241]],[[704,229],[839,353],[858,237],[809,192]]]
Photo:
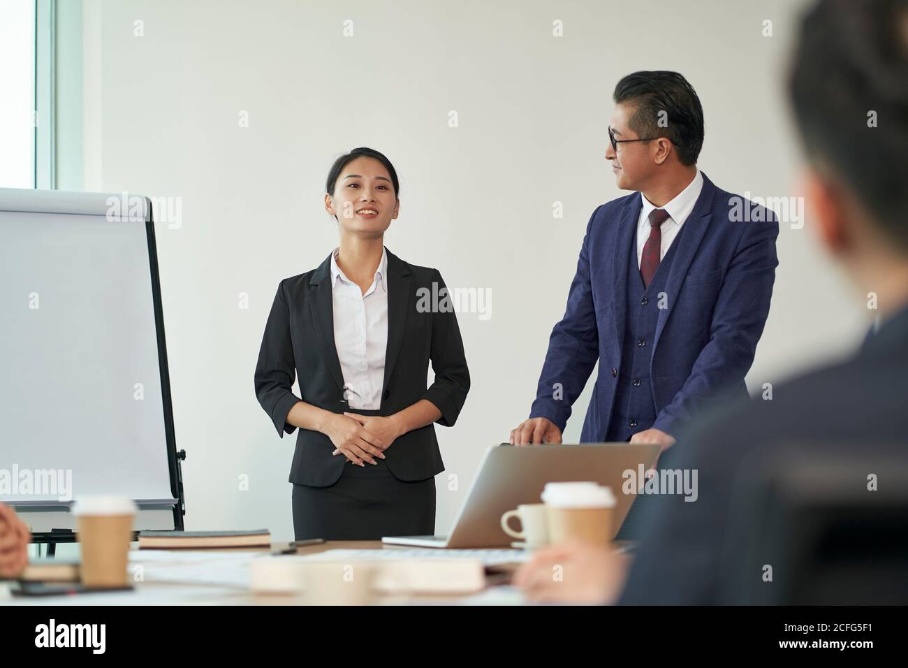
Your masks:
[[[590,217],[536,401],[511,444],[561,443],[597,361],[584,443],[665,450],[701,404],[747,394],[778,264],[775,215],[697,169],[703,109],[682,75],[627,75],[614,100],[606,158],[618,187],[637,192]]]

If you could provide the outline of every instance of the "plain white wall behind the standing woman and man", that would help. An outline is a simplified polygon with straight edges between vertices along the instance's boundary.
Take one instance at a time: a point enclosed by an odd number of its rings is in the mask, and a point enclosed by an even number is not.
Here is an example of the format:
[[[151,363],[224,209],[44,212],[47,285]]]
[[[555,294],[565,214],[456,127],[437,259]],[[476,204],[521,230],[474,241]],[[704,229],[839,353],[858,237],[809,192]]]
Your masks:
[[[624,194],[603,158],[617,80],[680,71],[705,109],[706,174],[737,193],[797,194],[782,85],[801,6],[85,0],[85,187],[182,203],[182,225],[157,234],[187,527],[292,535],[294,438],[277,438],[252,372],[278,282],[336,244],[321,207],[334,155],[389,155],[401,215],[386,244],[451,286],[492,292],[490,320],[459,316],[472,390],[458,424],[438,429],[444,532],[482,449],[528,414],[589,214]],[[752,391],[854,343],[868,322],[810,226],[783,225]]]

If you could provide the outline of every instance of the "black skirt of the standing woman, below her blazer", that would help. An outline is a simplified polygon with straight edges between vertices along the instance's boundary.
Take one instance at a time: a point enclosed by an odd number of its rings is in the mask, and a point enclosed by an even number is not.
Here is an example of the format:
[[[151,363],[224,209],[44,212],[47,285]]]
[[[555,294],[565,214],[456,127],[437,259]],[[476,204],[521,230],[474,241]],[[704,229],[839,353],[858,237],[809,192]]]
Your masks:
[[[337,456],[342,457],[342,454]],[[344,464],[329,487],[293,484],[296,540],[373,541],[435,533],[435,478],[398,480],[384,460]]]

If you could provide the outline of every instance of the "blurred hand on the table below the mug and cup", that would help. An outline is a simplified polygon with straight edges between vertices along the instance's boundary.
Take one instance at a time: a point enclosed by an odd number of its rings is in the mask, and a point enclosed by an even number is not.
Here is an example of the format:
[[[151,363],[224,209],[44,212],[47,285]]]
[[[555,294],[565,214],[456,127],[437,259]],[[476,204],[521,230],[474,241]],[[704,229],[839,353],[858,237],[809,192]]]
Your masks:
[[[533,603],[615,603],[630,558],[612,545],[579,541],[539,550],[511,581]]]

